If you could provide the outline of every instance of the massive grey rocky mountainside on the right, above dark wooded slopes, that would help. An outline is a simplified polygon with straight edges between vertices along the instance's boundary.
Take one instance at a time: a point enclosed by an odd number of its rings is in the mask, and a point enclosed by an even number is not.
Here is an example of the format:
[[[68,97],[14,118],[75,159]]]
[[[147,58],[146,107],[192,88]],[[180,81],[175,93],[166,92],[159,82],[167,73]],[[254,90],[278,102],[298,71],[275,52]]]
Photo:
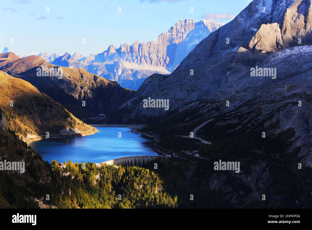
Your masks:
[[[311,2],[305,0],[252,1],[230,23],[200,42],[172,74],[147,78],[136,97],[122,106],[123,113],[128,111],[124,122],[171,119],[170,127],[176,127],[227,114],[239,129],[231,111],[243,107],[249,115],[242,118],[247,119],[260,109],[256,103],[272,104],[261,109],[274,114],[274,119],[265,120],[258,114],[251,127],[257,122],[267,122],[268,127],[277,122],[277,128],[271,130],[275,134],[294,128],[291,148],[302,146],[300,156],[312,165],[311,131],[307,128],[312,125],[311,9]],[[270,68],[266,71],[272,72],[251,76],[252,68]],[[148,97],[169,99],[170,109],[144,108],[143,99]],[[301,107],[298,101],[303,103]],[[182,121],[173,119],[183,111],[192,113]]]

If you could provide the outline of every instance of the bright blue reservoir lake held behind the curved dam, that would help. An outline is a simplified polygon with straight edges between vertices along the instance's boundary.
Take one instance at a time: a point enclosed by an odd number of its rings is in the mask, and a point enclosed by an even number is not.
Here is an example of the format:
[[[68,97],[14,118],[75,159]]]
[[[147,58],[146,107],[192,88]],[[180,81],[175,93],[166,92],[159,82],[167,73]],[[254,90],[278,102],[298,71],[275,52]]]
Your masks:
[[[124,156],[156,156],[150,149],[154,140],[141,134],[127,132],[124,127],[96,127],[100,132],[81,137],[42,139],[30,146],[43,160],[58,162],[100,163]],[[118,138],[121,132],[121,138]]]

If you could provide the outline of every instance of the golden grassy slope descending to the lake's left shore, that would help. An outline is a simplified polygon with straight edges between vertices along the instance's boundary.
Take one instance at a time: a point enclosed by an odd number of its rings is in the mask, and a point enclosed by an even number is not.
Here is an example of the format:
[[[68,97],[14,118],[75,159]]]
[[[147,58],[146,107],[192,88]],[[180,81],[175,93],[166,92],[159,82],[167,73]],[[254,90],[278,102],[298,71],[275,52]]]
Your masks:
[[[8,128],[23,138],[46,135],[46,132],[55,135],[60,134],[60,131],[65,134],[66,131],[80,133],[95,130],[32,84],[2,71],[0,71],[0,99]]]

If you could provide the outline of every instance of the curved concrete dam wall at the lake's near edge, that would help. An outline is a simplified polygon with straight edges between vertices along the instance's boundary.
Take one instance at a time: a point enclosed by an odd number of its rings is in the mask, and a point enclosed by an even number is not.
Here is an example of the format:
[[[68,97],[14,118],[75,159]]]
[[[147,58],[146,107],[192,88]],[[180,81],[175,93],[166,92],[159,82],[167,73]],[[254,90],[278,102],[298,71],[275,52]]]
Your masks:
[[[101,164],[122,165],[122,166],[142,166],[144,163],[153,161],[157,158],[168,159],[171,156],[126,156],[114,160],[104,161]]]

